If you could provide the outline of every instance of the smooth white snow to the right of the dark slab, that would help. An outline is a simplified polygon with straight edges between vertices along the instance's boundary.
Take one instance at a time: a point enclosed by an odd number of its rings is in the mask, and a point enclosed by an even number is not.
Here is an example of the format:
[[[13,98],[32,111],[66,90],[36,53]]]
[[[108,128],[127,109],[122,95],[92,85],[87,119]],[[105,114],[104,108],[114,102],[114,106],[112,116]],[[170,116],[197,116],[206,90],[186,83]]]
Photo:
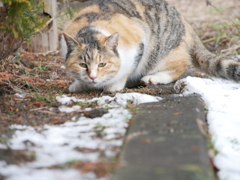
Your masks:
[[[208,107],[207,122],[212,143],[218,151],[214,164],[220,180],[240,180],[240,83],[221,79],[187,77],[183,95],[198,93]]]

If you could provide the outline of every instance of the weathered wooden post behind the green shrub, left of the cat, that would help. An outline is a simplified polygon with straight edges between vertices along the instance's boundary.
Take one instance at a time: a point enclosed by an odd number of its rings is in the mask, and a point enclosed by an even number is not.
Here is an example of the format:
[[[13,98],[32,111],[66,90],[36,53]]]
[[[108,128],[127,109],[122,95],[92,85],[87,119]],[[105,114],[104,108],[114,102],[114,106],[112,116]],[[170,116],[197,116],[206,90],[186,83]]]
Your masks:
[[[57,15],[57,1],[45,0],[47,8],[44,14],[52,17]],[[24,49],[31,53],[47,53],[58,48],[57,19],[54,19],[42,32],[32,37],[30,44]]]

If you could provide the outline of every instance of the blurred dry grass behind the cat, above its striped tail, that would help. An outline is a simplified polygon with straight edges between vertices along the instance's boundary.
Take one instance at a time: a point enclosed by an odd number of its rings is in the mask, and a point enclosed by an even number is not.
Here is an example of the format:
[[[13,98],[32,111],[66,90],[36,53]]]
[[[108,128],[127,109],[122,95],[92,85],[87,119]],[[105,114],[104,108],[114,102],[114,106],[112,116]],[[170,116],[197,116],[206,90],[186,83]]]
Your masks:
[[[240,1],[167,0],[193,26],[206,47],[215,53],[240,54]]]

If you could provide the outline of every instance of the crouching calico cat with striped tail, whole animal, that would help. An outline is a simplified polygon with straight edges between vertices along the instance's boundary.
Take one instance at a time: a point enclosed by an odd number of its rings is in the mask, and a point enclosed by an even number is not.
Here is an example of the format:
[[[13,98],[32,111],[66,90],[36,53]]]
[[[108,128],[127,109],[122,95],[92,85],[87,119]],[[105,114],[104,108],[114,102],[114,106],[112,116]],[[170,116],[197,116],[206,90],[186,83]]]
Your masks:
[[[126,82],[167,84],[192,63],[201,71],[240,80],[240,63],[210,53],[165,0],[98,0],[65,27],[61,40],[70,92],[122,90]]]

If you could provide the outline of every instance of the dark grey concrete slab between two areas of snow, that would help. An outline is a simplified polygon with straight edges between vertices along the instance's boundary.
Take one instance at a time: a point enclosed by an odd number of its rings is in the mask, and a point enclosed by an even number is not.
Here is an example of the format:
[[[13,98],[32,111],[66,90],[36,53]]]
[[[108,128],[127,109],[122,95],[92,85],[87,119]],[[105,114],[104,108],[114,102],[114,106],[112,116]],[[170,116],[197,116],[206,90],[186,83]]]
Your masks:
[[[207,140],[196,120],[205,120],[199,97],[144,104],[130,126],[113,180],[210,180]]]

